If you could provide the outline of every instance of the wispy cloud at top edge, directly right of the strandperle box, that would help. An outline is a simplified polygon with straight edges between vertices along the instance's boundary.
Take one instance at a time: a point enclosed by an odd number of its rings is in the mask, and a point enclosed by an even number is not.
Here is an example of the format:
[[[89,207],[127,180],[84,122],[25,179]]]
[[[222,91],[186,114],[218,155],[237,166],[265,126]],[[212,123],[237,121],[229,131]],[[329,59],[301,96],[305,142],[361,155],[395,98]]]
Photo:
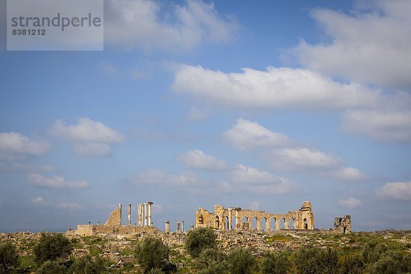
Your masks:
[[[228,42],[238,29],[232,18],[216,12],[213,3],[197,0],[186,0],[184,5],[106,0],[104,19],[105,40],[128,50],[184,51],[205,41]]]

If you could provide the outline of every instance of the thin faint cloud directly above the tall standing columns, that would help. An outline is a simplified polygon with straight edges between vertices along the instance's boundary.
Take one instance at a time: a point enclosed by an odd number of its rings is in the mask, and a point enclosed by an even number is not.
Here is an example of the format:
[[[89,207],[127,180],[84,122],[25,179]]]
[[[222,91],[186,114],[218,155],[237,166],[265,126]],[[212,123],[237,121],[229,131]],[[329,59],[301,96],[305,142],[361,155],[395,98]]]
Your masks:
[[[153,184],[161,186],[199,186],[203,181],[195,173],[167,174],[158,169],[149,169],[132,177],[136,184]]]

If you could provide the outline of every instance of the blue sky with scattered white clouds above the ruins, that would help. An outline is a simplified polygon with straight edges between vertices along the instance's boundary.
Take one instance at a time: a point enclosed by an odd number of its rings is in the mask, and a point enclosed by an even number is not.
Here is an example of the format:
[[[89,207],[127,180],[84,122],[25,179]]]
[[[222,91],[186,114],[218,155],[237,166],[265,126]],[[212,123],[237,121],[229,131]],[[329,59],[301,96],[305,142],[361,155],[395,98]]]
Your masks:
[[[411,229],[411,1],[107,0],[103,51],[5,51],[4,5],[0,231],[307,200]]]

